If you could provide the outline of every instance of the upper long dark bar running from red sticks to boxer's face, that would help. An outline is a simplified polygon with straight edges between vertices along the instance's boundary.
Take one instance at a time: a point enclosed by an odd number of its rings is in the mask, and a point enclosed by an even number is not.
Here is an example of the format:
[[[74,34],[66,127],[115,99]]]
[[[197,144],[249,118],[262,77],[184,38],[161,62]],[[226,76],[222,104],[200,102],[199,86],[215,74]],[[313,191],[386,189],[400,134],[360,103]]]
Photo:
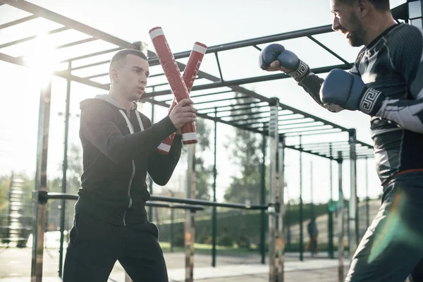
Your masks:
[[[253,39],[246,39],[246,40],[241,40],[238,42],[231,42],[227,44],[219,44],[212,47],[208,47],[206,54],[215,53],[219,51],[227,51],[231,49],[238,49],[243,47],[249,47],[249,46],[255,46],[258,44],[265,44],[265,43],[276,42],[281,40],[294,39],[298,37],[305,37],[309,35],[319,35],[322,33],[329,33],[329,32],[333,32],[332,26],[323,25],[320,27],[312,27],[305,30],[295,30],[291,32],[280,33],[277,35],[267,35],[264,37],[257,37]],[[175,59],[188,58],[188,56],[190,56],[190,51],[179,52],[174,54],[173,56],[175,56]],[[149,60],[149,63],[150,63],[150,66],[158,65],[159,59],[157,58],[151,59]]]

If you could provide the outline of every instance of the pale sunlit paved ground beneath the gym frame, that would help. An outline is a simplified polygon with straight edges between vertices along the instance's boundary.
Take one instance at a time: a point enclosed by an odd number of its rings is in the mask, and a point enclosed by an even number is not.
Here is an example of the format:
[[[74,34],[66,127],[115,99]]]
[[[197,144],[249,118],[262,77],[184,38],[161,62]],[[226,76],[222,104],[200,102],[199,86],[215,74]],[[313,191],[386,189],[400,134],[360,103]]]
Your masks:
[[[285,281],[338,281],[338,260],[326,259],[321,254],[313,259],[305,256],[300,262],[298,254],[287,254],[285,264]],[[185,281],[185,255],[183,253],[166,253],[168,276],[172,282]],[[195,255],[195,281],[204,282],[258,282],[269,281],[269,266],[259,264],[259,255],[217,256],[217,267],[211,267],[210,255]],[[58,282],[57,278],[59,252],[56,248],[44,250],[43,281]],[[31,249],[14,247],[0,249],[0,281],[30,281]],[[345,261],[348,264],[348,260]],[[345,270],[346,273],[346,270]],[[125,273],[116,263],[109,282],[124,282]]]

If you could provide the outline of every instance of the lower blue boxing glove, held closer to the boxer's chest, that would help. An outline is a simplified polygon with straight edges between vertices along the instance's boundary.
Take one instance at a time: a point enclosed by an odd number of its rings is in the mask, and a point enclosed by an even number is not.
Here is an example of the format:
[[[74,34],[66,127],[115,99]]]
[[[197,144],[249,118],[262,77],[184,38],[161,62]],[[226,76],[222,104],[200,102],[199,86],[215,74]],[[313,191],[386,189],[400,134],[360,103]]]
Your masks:
[[[374,116],[385,97],[379,90],[367,87],[360,76],[333,69],[321,85],[320,99],[324,104],[336,104]]]

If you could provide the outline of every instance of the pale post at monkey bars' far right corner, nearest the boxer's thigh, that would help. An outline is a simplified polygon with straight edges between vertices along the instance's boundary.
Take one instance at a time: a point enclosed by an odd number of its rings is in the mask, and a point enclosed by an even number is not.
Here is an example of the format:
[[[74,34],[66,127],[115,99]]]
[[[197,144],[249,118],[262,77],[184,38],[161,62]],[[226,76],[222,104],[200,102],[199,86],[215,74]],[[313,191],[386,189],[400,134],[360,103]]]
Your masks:
[[[349,130],[350,138],[350,258],[353,257],[358,245],[358,220],[357,220],[357,156],[355,155],[356,133],[355,129]]]

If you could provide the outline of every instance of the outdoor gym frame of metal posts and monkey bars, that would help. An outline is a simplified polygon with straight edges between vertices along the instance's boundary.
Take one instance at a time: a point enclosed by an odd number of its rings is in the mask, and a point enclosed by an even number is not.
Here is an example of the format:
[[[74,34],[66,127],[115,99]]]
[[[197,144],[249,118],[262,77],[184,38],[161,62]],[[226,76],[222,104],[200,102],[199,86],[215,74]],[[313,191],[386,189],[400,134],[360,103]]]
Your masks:
[[[397,20],[410,21],[410,23],[422,26],[422,1],[408,1],[408,3],[398,6],[393,9],[393,15]],[[109,84],[99,82],[99,78],[102,78],[108,73],[92,73],[87,76],[76,75],[78,71],[82,69],[89,69],[94,66],[102,66],[109,63],[107,60],[98,60],[94,63],[87,63],[81,66],[73,66],[76,61],[83,61],[85,59],[94,59],[97,56],[104,54],[113,54],[115,51],[123,48],[134,48],[144,51],[148,58],[149,64],[159,66],[159,62],[154,52],[147,50],[146,45],[143,42],[126,42],[118,37],[108,35],[104,32],[96,30],[82,23],[78,23],[75,20],[66,18],[57,13],[49,11],[45,8],[36,6],[27,1],[23,0],[0,0],[1,5],[8,5],[14,8],[18,8],[22,11],[30,13],[30,16],[24,18],[18,18],[9,23],[0,25],[0,30],[19,25],[22,23],[35,20],[37,18],[44,18],[53,23],[61,25],[61,27],[54,30],[49,30],[49,35],[54,35],[66,30],[75,30],[82,32],[87,35],[87,38],[80,39],[75,42],[68,42],[60,46],[56,46],[57,49],[67,49],[75,46],[84,46],[83,44],[89,44],[90,42],[107,42],[113,44],[113,48],[92,50],[87,48],[86,54],[66,58],[61,63],[66,66],[62,71],[56,71],[53,75],[57,75],[67,80],[67,92],[66,92],[66,112],[65,112],[65,137],[64,137],[64,154],[63,154],[63,183],[61,194],[54,194],[47,192],[47,155],[48,155],[48,140],[49,140],[49,118],[50,118],[50,101],[51,101],[51,80],[47,87],[42,89],[40,94],[39,103],[39,127],[38,127],[38,145],[37,145],[37,170],[36,170],[36,183],[35,183],[35,215],[36,221],[34,226],[34,241],[32,247],[32,270],[31,276],[32,281],[42,281],[42,255],[44,246],[44,223],[46,216],[46,205],[48,199],[62,199],[62,224],[61,224],[61,245],[63,245],[63,222],[64,222],[64,207],[66,200],[75,200],[75,195],[66,195],[66,171],[67,171],[67,150],[68,150],[68,125],[69,125],[69,104],[71,99],[71,82],[80,82],[84,85],[97,87],[102,90],[109,90]],[[0,7],[1,8],[1,7]],[[284,248],[284,235],[283,235],[283,183],[284,183],[284,151],[285,149],[295,149],[300,152],[300,207],[302,207],[302,170],[301,170],[301,156],[305,152],[307,154],[313,154],[315,156],[324,157],[331,161],[337,161],[339,171],[339,197],[338,201],[343,201],[342,193],[342,164],[344,159],[350,161],[350,202],[349,202],[349,214],[348,224],[350,226],[349,234],[349,245],[350,254],[353,253],[358,243],[357,234],[357,179],[356,179],[356,161],[357,159],[368,159],[373,157],[372,146],[364,142],[360,142],[356,138],[355,130],[349,128],[343,128],[340,125],[325,121],[322,118],[307,114],[304,111],[294,109],[291,106],[282,104],[276,98],[267,98],[255,91],[247,90],[245,85],[248,83],[263,82],[269,80],[277,80],[287,78],[287,75],[272,74],[262,75],[259,77],[242,78],[238,80],[224,80],[223,73],[219,61],[219,52],[228,51],[231,49],[253,47],[260,49],[259,44],[266,44],[270,42],[278,42],[286,39],[295,38],[308,38],[317,47],[323,48],[328,51],[329,54],[333,55],[341,61],[338,65],[324,66],[321,68],[314,68],[314,73],[327,73],[333,68],[348,69],[351,63],[343,59],[341,56],[331,51],[324,44],[319,42],[315,38],[316,35],[332,32],[330,25],[321,27],[313,27],[307,30],[297,30],[293,32],[286,32],[279,35],[271,35],[266,37],[259,37],[255,39],[247,39],[240,42],[232,42],[228,44],[221,44],[212,46],[207,49],[207,54],[214,54],[216,63],[219,68],[219,77],[200,71],[198,73],[197,80],[207,80],[207,83],[195,85],[192,87],[192,99],[205,99],[202,102],[196,102],[197,105],[197,116],[206,118],[214,121],[214,197],[213,202],[201,202],[197,200],[190,200],[195,195],[195,169],[194,169],[194,158],[195,158],[195,146],[188,146],[188,171],[187,171],[187,199],[176,199],[166,197],[155,197],[152,196],[154,202],[150,202],[149,205],[166,206],[173,208],[187,209],[186,221],[185,221],[185,253],[186,259],[186,278],[185,281],[193,280],[193,246],[194,246],[194,213],[196,210],[202,209],[201,206],[212,205],[214,206],[212,214],[213,222],[213,266],[215,266],[215,255],[216,255],[216,207],[226,207],[228,204],[216,203],[216,125],[217,123],[223,123],[231,125],[235,128],[242,128],[244,130],[250,130],[251,132],[258,133],[263,136],[262,151],[266,152],[266,137],[269,138],[269,150],[270,150],[270,185],[269,185],[269,199],[265,199],[265,188],[264,188],[264,170],[265,170],[265,157],[262,164],[262,191],[260,197],[260,204],[255,207],[247,207],[245,205],[232,204],[233,208],[245,208],[245,209],[261,209],[262,210],[262,221],[265,219],[265,210],[269,216],[269,281],[283,281],[283,248]],[[4,49],[8,47],[14,47],[18,44],[30,42],[35,39],[36,36],[30,36],[14,40],[13,42],[6,42],[0,44],[0,60],[8,63],[15,63],[20,66],[27,66],[23,56],[11,56],[4,52]],[[175,54],[176,59],[183,59],[189,56],[189,51],[184,51]],[[24,55],[24,54],[23,54]],[[111,57],[111,56],[110,56]],[[181,71],[185,68],[183,63],[178,62],[178,66]],[[163,73],[156,73],[152,75],[152,78],[158,78],[159,81],[156,85],[149,85],[147,93],[145,93],[141,102],[149,102],[153,105],[159,106],[170,106],[171,92],[166,87],[166,80],[164,80]],[[97,81],[96,81],[97,80]],[[157,90],[162,88],[161,90]],[[209,92],[212,90],[212,92]],[[207,92],[204,92],[207,91]],[[201,92],[197,94],[197,92]],[[241,99],[242,98],[242,99]],[[243,101],[243,102],[240,102]],[[223,103],[222,103],[223,102]],[[228,106],[228,102],[231,102]],[[250,109],[254,111],[250,112]],[[302,143],[301,138],[303,136],[314,136],[314,135],[336,135],[347,137],[343,141],[333,141],[325,143]],[[288,139],[300,140],[295,142],[286,142]],[[265,154],[263,154],[265,156]],[[332,166],[331,166],[332,167]],[[332,168],[331,168],[332,172]],[[367,176],[366,176],[367,177]],[[331,178],[332,184],[332,178]],[[158,204],[157,202],[179,202],[182,205],[176,206],[174,204]],[[195,204],[195,205],[192,205]],[[198,206],[200,205],[200,206]],[[231,204],[229,204],[231,205]],[[302,209],[300,209],[302,211]],[[343,241],[343,204],[340,205],[340,212],[338,213],[338,240]],[[332,216],[329,217],[329,226],[331,224]],[[333,220],[332,220],[333,224]],[[332,234],[333,235],[333,234]],[[330,236],[330,235],[329,235]],[[300,212],[300,250],[302,254],[302,214]],[[261,252],[262,252],[262,263],[264,263],[264,245],[265,245],[265,228],[262,223],[260,231],[261,241]],[[343,244],[338,244],[340,261],[339,267],[339,278],[340,281],[343,279]],[[63,250],[60,250],[63,252]],[[61,257],[62,258],[62,257]],[[302,259],[302,257],[300,257]],[[61,262],[60,262],[61,263]],[[60,264],[61,265],[61,264]],[[61,267],[61,266],[60,266]],[[59,272],[61,276],[61,272]]]

